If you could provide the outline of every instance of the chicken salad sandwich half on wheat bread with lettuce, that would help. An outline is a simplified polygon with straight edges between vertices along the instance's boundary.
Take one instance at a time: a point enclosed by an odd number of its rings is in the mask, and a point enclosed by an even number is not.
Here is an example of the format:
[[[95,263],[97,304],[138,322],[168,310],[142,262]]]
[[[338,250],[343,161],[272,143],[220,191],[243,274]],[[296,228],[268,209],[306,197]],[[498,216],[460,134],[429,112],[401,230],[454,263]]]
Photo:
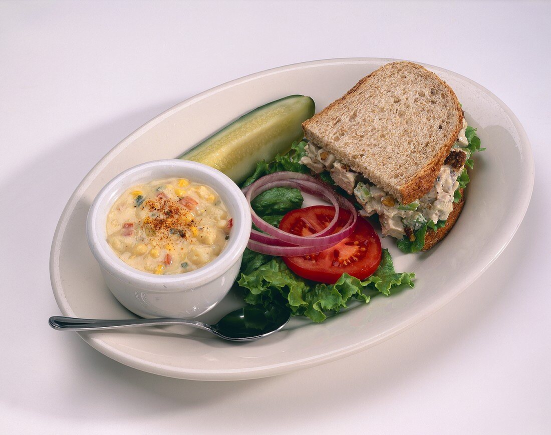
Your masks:
[[[480,140],[451,87],[428,69],[383,65],[302,128],[301,163],[328,171],[364,216],[378,214],[402,251],[430,249],[457,220]]]

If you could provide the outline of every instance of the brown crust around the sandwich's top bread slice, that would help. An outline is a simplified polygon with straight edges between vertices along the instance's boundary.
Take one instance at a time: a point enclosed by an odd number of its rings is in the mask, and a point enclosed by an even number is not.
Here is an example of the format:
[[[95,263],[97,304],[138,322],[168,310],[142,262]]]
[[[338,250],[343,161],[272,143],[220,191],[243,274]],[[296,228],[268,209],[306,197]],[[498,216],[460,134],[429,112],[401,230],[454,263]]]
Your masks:
[[[410,68],[417,69],[419,71],[422,71],[423,73],[428,73],[431,76],[434,76],[437,81],[440,82],[442,86],[444,86],[450,93],[452,97],[452,104],[455,106],[455,112],[458,113],[458,118],[456,119],[456,125],[455,129],[452,130],[452,134],[450,135],[449,139],[445,142],[445,144],[442,144],[440,149],[436,152],[435,156],[427,163],[423,168],[417,171],[417,173],[413,174],[413,176],[404,183],[401,188],[398,189],[398,191],[390,192],[391,194],[395,195],[397,199],[402,202],[403,204],[408,204],[410,202],[413,202],[415,200],[418,200],[419,198],[423,197],[425,194],[427,194],[434,185],[434,180],[440,173],[440,168],[442,167],[442,164],[444,164],[444,160],[446,157],[450,154],[451,148],[453,144],[455,143],[457,136],[462,128],[463,124],[463,115],[461,110],[461,104],[457,100],[457,96],[455,95],[455,92],[451,89],[451,87],[446,84],[446,82],[442,79],[440,79],[436,74],[432,73],[432,71],[427,70],[426,68],[422,67],[421,65],[402,61],[402,62],[394,62],[392,64],[386,64],[383,65],[383,67],[387,67],[388,65],[393,65],[395,67],[400,67],[401,65],[407,65]],[[314,115],[314,117],[305,120],[304,123],[302,123],[302,129],[304,130],[304,134],[306,139],[309,141],[314,142],[316,145],[321,145],[322,137],[317,137],[317,135],[314,133],[314,131],[311,130],[311,125],[316,123],[318,119],[323,117],[330,117],[331,115],[328,114],[333,110],[334,107],[338,106],[339,104],[343,103],[347,98],[358,91],[358,89],[365,84],[366,81],[371,80],[374,78],[381,69],[379,68],[375,71],[373,71],[371,74],[365,76],[364,78],[360,79],[353,87],[350,89],[347,93],[345,93],[341,98],[338,98],[338,100],[333,101],[331,104],[329,104],[326,108],[324,108],[320,113],[317,113]],[[325,146],[321,145],[325,148]],[[331,147],[329,147],[331,148]],[[355,172],[359,172],[363,174],[366,178],[370,179],[370,177],[367,177],[367,175],[359,168],[354,161],[352,161],[348,156],[340,155],[339,152],[336,152],[336,150],[328,149],[328,151],[331,151],[334,155],[336,155],[342,162],[348,164],[350,168],[352,168]],[[376,183],[375,180],[371,180],[372,183]],[[385,186],[380,186],[383,190],[388,191],[388,189]]]

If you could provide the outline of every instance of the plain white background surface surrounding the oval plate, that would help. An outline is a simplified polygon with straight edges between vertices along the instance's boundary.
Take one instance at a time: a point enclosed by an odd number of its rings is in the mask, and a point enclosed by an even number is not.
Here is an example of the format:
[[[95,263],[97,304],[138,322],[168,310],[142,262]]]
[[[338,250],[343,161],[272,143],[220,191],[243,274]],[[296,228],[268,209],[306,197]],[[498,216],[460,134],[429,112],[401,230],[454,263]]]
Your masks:
[[[550,20],[544,2],[0,2],[0,432],[550,433]],[[336,57],[456,71],[525,126],[532,202],[475,284],[375,348],[255,381],[150,375],[48,328],[57,219],[111,147],[212,86]]]

